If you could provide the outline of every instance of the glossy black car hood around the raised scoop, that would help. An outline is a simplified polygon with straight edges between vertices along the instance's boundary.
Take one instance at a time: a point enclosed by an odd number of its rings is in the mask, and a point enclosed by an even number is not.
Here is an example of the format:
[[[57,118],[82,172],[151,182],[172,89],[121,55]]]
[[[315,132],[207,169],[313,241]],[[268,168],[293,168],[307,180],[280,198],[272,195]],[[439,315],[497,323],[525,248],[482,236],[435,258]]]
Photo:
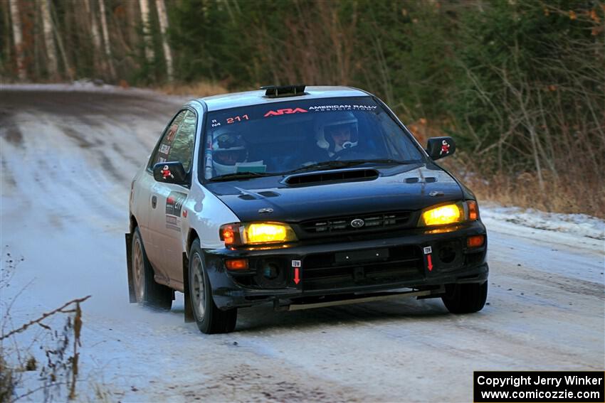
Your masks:
[[[241,221],[300,222],[339,215],[419,210],[462,200],[458,183],[436,165],[377,168],[371,181],[288,186],[283,176],[206,183]],[[333,172],[333,171],[330,171]],[[259,213],[273,209],[270,213]]]

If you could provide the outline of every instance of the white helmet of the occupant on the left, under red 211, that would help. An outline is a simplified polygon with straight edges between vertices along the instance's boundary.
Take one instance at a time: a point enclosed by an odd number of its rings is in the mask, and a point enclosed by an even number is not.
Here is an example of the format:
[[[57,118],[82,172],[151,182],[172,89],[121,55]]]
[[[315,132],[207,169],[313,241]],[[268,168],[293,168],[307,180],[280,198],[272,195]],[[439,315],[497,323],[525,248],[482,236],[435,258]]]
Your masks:
[[[245,162],[248,158],[246,141],[241,134],[228,129],[214,132],[212,141],[212,166],[216,175],[226,175],[236,172],[236,164]]]

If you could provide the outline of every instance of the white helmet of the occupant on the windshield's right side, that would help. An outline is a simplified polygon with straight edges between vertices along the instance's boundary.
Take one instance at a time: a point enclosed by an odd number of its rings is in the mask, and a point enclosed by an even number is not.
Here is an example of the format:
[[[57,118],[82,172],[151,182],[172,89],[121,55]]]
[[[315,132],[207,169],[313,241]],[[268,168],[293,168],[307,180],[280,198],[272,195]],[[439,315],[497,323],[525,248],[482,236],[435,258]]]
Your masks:
[[[330,156],[357,146],[357,118],[352,112],[341,112],[337,119],[327,120],[317,127],[316,139],[317,146]]]

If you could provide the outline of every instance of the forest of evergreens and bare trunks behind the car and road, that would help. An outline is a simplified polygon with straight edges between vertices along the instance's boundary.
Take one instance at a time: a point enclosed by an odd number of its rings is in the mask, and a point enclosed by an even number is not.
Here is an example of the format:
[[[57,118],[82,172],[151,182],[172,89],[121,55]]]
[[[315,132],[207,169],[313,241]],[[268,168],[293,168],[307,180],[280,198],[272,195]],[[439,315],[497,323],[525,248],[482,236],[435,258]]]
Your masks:
[[[605,217],[605,2],[0,0],[0,83],[374,92],[479,200]]]

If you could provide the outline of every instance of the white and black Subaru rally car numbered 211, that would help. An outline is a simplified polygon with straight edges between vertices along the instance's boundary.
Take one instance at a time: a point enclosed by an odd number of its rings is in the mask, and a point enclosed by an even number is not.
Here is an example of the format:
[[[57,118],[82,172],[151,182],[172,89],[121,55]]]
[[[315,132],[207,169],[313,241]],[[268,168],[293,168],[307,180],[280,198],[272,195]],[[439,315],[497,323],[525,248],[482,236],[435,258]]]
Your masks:
[[[480,311],[487,237],[473,193],[389,107],[350,87],[269,86],[192,100],[132,181],[130,301],[204,333],[240,307],[400,296]]]

